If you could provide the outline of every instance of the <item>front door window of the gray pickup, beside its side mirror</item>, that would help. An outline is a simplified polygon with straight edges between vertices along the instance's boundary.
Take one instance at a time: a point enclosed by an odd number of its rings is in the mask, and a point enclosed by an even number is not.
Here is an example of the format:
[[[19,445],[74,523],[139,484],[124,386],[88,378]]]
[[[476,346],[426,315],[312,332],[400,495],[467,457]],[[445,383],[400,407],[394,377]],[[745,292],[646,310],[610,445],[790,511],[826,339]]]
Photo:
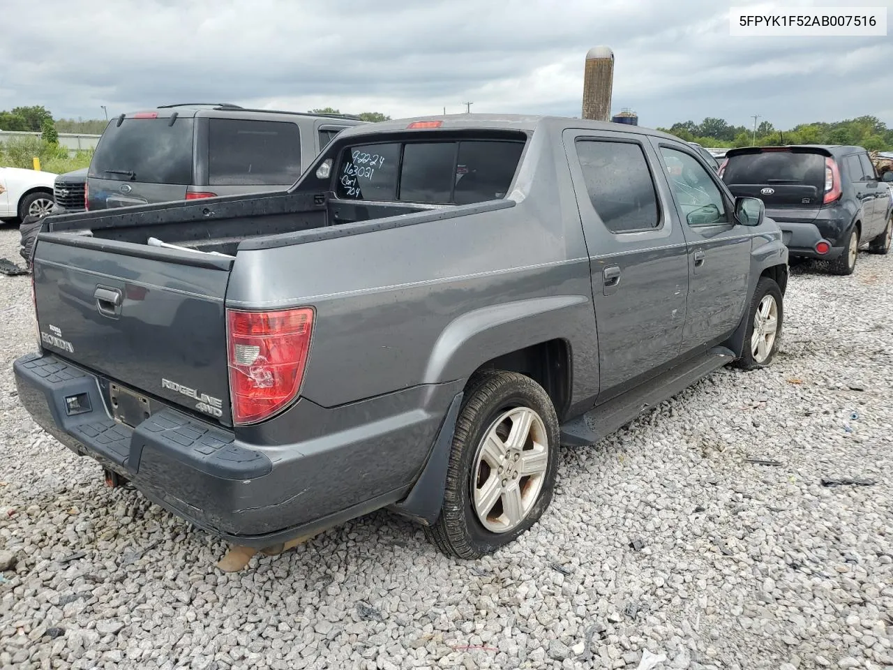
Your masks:
[[[661,147],[673,196],[689,226],[728,223],[720,188],[693,156],[670,147]]]

